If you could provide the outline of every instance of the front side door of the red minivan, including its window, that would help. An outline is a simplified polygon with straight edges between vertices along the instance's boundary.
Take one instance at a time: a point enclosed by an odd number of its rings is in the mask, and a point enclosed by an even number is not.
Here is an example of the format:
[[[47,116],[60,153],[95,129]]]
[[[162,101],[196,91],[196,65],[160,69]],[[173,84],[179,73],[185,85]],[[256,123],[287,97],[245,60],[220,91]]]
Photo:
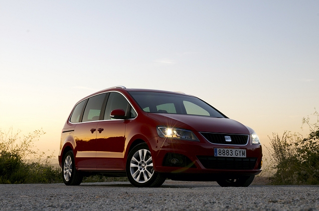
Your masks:
[[[113,119],[110,113],[114,109],[123,109],[126,115],[130,115],[131,105],[127,99],[118,92],[109,94],[103,120],[97,126],[97,169],[125,170],[124,148],[125,128],[130,120]]]

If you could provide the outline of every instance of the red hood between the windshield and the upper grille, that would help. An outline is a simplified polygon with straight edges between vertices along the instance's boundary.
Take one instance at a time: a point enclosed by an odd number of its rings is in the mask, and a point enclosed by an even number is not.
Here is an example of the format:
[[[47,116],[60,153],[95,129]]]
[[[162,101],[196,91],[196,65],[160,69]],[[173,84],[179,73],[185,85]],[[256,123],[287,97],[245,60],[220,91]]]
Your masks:
[[[159,120],[163,126],[178,127],[199,132],[250,134],[245,125],[230,118],[172,113],[149,113],[148,115]]]

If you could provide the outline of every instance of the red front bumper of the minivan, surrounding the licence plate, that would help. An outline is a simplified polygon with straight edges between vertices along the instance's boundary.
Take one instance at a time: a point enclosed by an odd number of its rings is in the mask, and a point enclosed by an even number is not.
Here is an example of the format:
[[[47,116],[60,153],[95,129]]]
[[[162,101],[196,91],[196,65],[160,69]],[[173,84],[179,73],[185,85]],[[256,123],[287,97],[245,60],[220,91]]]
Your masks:
[[[222,145],[212,144],[205,139],[200,141],[185,141],[170,138],[155,137],[149,141],[152,149],[152,157],[154,169],[156,172],[167,174],[168,178],[175,177],[189,177],[193,178],[206,178],[203,180],[214,180],[220,177],[238,177],[239,175],[257,175],[261,172],[262,160],[262,146],[261,144],[248,144],[246,145]],[[233,149],[246,149],[245,158],[234,157],[215,157],[214,148],[233,148]],[[167,153],[175,153],[184,155],[189,158],[191,164],[186,163],[184,166],[174,167],[174,165],[167,166],[163,162]],[[199,158],[207,158],[209,165]],[[167,159],[166,159],[167,160]],[[201,160],[201,161],[200,161]],[[222,161],[221,161],[222,160]],[[243,167],[241,162],[250,162],[249,167]],[[218,165],[216,162],[222,165]],[[237,163],[236,163],[237,162]],[[254,162],[254,164],[252,164]],[[215,165],[216,164],[216,165]],[[238,165],[237,165],[238,164]],[[215,168],[216,167],[216,168]]]

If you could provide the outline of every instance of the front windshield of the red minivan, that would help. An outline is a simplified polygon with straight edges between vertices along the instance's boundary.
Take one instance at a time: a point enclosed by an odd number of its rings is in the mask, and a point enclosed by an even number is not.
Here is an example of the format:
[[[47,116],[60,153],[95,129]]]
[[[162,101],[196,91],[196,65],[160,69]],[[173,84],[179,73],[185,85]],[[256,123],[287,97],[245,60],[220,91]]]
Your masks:
[[[129,93],[146,112],[225,117],[212,106],[195,97],[156,92]]]

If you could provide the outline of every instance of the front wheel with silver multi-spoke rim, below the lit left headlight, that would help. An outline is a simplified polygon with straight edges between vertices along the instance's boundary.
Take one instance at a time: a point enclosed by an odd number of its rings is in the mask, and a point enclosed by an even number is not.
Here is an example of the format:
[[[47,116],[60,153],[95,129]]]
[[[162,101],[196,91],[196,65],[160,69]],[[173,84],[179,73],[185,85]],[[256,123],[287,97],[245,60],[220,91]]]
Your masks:
[[[129,153],[126,162],[126,174],[135,187],[160,187],[165,177],[153,169],[153,159],[146,143],[136,145]]]

